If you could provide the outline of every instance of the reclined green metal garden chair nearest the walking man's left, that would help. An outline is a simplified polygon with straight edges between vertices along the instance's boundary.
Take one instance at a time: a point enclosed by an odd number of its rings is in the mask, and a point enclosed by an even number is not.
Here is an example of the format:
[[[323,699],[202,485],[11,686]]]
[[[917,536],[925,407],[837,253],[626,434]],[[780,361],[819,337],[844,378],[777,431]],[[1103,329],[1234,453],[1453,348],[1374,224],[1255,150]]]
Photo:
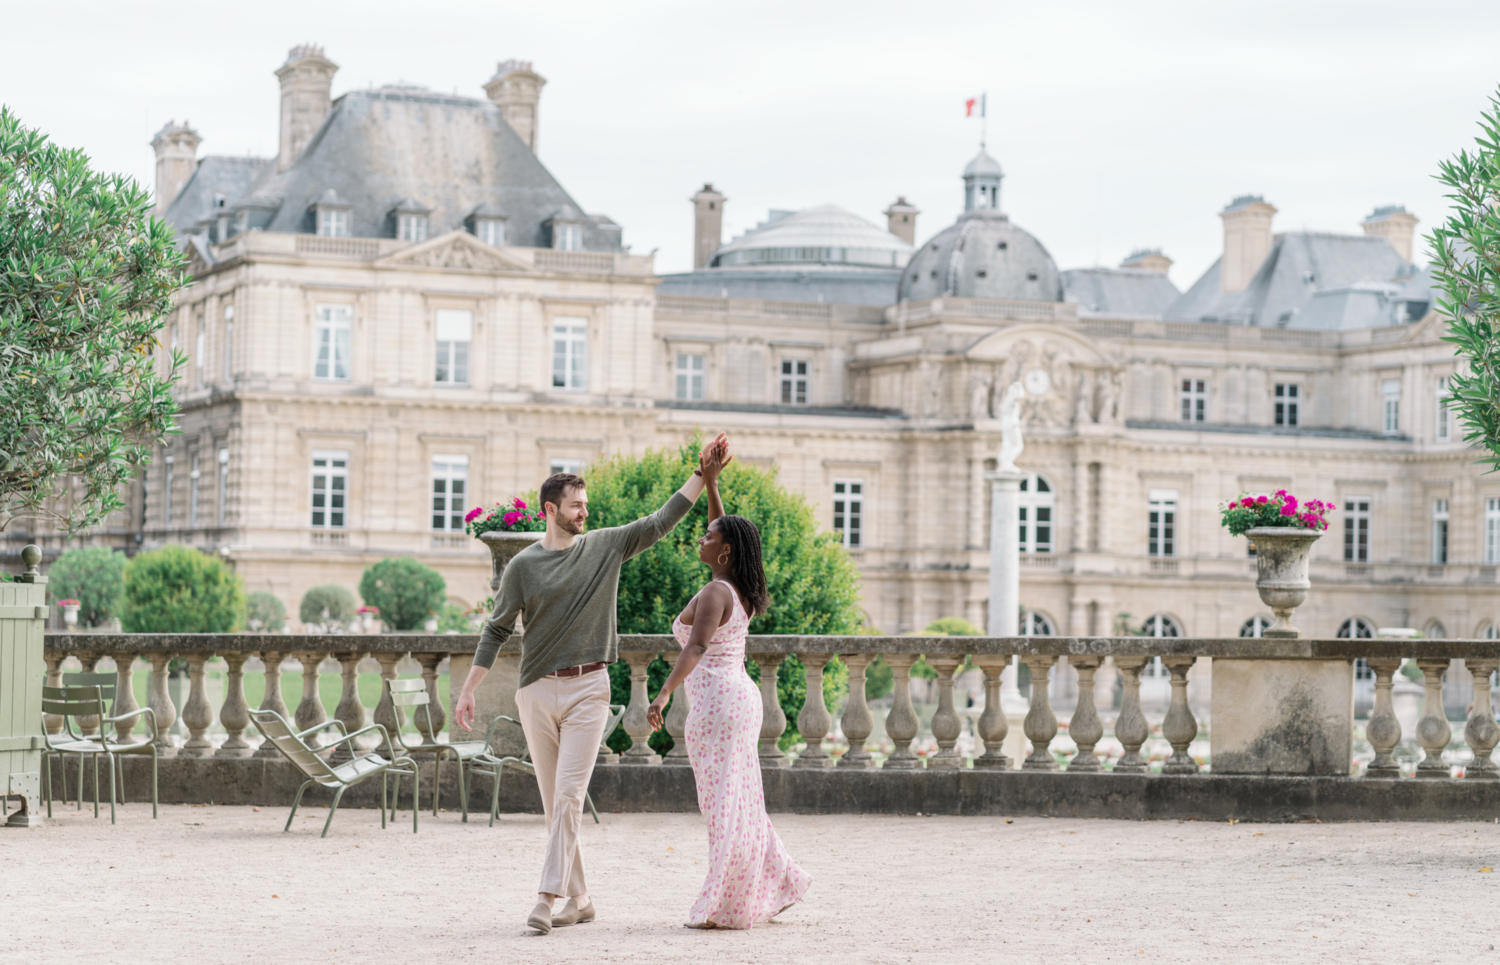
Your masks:
[[[386,804],[390,801],[390,818],[396,819],[396,804],[400,801],[400,779],[396,780],[394,798],[387,794],[386,780],[392,774],[410,774],[411,776],[411,833],[417,833],[417,812],[422,810],[418,801],[422,798],[422,776],[417,773],[417,764],[410,756],[398,755],[396,746],[390,740],[390,734],[380,723],[372,723],[369,726],[362,726],[352,734],[346,732],[342,720],[327,720],[324,723],[315,723],[306,731],[294,731],[286,719],[282,717],[274,710],[252,710],[250,720],[255,722],[255,729],[266,735],[266,740],[272,741],[282,756],[291,761],[292,767],[300,770],[306,780],[297,788],[297,797],[291,803],[291,813],[286,815],[286,827],[282,831],[291,830],[291,819],[297,816],[297,807],[302,804],[302,794],[312,785],[333,789],[333,803],[328,806],[328,819],[322,822],[322,837],[328,836],[328,825],[333,824],[333,813],[339,809],[339,798],[344,792],[360,783],[366,777],[374,777],[380,774],[380,825],[386,827]],[[308,744],[308,735],[324,728],[338,728],[339,738],[330,744],[322,744],[321,747],[312,747]],[[350,743],[356,737],[363,734],[378,732],[386,741],[386,752],[388,758],[382,758],[378,753],[366,753],[363,756],[356,756],[342,764],[330,764],[318,755],[336,747],[342,743]],[[357,749],[350,743],[350,750],[357,753]]]

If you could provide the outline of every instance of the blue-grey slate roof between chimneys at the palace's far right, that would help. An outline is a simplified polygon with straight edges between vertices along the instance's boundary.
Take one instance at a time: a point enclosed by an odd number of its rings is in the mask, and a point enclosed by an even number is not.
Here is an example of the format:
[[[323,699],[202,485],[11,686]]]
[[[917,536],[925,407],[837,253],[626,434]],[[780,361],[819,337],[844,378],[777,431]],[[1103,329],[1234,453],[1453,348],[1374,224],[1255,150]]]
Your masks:
[[[1383,237],[1287,231],[1245,291],[1220,291],[1220,261],[1172,303],[1168,321],[1282,329],[1376,329],[1412,320],[1422,272]],[[1414,284],[1413,284],[1414,282]],[[1382,294],[1383,293],[1383,294]],[[1416,318],[1426,312],[1420,305]]]

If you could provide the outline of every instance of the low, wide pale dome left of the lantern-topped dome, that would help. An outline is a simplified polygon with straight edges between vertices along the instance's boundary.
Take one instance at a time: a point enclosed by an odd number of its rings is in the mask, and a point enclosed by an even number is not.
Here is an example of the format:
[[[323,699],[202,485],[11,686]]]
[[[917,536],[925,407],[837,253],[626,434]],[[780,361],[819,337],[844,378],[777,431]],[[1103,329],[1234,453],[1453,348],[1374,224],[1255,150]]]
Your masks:
[[[832,264],[890,270],[900,269],[910,255],[912,246],[885,228],[837,204],[822,204],[772,212],[768,221],[714,252],[710,267]]]

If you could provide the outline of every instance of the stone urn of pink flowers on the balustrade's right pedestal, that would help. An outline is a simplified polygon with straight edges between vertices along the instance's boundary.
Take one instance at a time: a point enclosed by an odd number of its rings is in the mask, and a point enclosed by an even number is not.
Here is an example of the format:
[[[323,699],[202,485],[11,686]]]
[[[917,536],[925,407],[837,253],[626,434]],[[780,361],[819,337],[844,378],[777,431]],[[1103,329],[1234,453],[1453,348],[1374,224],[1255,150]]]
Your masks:
[[[1292,626],[1292,611],[1308,599],[1308,554],[1328,530],[1334,503],[1300,503],[1286,489],[1268,495],[1245,495],[1221,507],[1220,522],[1230,536],[1248,536],[1256,548],[1256,590],[1275,614],[1262,636],[1302,636]]]

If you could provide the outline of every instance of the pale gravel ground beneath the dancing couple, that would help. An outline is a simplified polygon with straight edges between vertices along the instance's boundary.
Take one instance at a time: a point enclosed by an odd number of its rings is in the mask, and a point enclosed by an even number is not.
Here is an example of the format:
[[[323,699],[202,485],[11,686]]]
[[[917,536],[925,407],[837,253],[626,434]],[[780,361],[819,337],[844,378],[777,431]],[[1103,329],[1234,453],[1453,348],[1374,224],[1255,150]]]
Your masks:
[[[698,815],[606,813],[598,920],[534,936],[538,815],[150,815],[0,828],[0,962],[1500,962],[1496,824],[774,815],[807,900],[699,932]]]

